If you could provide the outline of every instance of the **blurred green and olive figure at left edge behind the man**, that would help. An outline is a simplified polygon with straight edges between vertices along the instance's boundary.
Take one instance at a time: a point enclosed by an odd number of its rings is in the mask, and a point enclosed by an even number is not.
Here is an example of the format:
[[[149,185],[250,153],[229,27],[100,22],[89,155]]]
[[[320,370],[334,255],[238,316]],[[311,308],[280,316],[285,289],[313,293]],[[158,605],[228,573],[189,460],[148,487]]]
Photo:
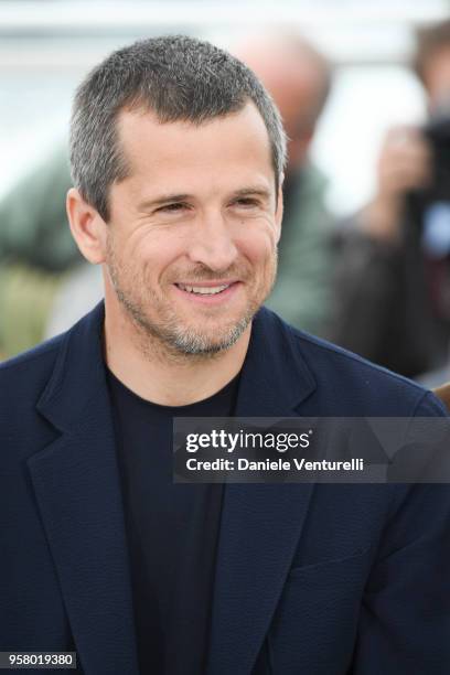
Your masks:
[[[0,202],[0,357],[40,342],[67,270],[81,264],[65,213],[61,143]]]

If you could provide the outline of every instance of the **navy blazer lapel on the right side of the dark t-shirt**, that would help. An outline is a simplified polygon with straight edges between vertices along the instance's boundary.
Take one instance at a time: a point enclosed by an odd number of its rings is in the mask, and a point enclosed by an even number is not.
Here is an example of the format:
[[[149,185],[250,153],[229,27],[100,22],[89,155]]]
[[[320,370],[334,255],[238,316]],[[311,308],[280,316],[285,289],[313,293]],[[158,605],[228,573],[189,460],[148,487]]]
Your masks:
[[[261,310],[253,324],[236,417],[297,417],[315,388],[294,338]],[[283,588],[312,484],[225,486],[212,610],[208,675],[249,674]]]

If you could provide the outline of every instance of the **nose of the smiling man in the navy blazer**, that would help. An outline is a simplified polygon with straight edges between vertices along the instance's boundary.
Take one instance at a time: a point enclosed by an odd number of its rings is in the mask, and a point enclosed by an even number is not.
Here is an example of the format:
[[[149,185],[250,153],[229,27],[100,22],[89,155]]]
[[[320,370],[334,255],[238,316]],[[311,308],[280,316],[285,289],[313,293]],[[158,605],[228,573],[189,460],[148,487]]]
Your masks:
[[[219,213],[199,218],[191,232],[189,258],[203,264],[214,271],[225,271],[237,258],[237,248],[231,226]]]

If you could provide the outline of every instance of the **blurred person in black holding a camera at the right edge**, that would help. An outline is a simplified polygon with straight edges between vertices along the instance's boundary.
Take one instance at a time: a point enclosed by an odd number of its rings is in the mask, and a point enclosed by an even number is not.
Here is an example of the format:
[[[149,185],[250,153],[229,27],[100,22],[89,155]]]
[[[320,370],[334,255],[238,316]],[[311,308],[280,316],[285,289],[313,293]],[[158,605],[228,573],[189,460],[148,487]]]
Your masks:
[[[373,201],[339,240],[332,341],[408,377],[450,339],[450,21],[417,34],[429,119],[388,131]]]

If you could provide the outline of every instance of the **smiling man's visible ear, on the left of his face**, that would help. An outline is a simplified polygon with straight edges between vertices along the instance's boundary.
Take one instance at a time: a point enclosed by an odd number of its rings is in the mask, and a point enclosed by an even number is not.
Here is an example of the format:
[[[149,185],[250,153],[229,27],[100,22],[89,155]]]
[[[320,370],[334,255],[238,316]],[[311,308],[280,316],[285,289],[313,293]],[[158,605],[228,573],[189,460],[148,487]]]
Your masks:
[[[104,262],[107,224],[103,217],[75,188],[67,192],[66,210],[72,236],[82,255],[93,265]]]

